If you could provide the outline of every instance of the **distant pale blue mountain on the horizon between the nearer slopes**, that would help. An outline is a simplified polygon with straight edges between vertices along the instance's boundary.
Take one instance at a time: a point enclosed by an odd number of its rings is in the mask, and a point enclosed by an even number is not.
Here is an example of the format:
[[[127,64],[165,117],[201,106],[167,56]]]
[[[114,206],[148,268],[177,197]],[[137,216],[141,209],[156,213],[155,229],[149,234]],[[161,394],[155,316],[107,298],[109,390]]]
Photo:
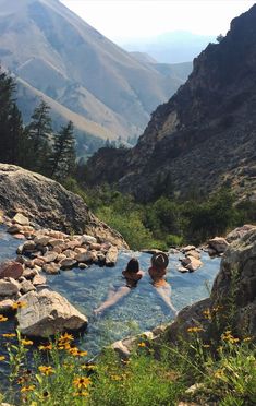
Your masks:
[[[185,31],[163,33],[149,38],[136,38],[121,46],[130,52],[147,53],[162,63],[192,61],[216,36],[198,35]]]

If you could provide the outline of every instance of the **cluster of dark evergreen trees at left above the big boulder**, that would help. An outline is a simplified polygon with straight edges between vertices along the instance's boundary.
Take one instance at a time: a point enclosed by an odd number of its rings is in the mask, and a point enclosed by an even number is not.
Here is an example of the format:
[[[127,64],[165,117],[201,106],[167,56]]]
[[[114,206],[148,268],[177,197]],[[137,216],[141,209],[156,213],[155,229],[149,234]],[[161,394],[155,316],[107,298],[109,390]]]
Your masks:
[[[13,77],[0,68],[0,162],[65,179],[76,166],[72,121],[54,132],[50,107],[41,100],[25,126],[15,101],[15,89]]]

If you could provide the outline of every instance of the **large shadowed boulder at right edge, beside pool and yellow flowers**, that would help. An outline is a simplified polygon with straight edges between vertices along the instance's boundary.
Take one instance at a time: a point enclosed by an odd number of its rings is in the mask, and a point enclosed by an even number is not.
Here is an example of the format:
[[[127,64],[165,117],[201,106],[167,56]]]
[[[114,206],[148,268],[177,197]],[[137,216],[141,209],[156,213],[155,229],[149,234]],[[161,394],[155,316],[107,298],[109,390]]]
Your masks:
[[[225,250],[210,298],[179,312],[166,333],[170,341],[187,335],[187,329],[199,326],[207,335],[208,314],[220,310],[223,322],[230,317],[237,335],[256,336],[256,227]]]

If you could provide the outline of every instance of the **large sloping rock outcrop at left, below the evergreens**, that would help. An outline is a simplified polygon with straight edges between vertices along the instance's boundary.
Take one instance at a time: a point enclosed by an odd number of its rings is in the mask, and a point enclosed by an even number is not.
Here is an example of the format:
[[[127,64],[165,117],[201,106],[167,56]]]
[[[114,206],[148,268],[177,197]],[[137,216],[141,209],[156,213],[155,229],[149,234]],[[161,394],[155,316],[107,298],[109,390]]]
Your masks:
[[[122,236],[100,222],[82,198],[51,179],[17,166],[0,164],[0,210],[8,217],[20,212],[41,227],[86,232],[117,247],[127,247]]]

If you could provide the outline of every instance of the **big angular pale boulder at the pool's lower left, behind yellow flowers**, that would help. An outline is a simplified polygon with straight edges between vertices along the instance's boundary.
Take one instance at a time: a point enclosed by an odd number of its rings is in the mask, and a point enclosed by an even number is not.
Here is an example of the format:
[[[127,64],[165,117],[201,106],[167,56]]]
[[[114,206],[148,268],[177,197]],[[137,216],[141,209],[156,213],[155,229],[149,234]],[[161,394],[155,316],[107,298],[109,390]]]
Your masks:
[[[56,291],[29,291],[23,301],[26,307],[19,309],[16,317],[19,330],[26,336],[49,337],[87,325],[87,318]]]

